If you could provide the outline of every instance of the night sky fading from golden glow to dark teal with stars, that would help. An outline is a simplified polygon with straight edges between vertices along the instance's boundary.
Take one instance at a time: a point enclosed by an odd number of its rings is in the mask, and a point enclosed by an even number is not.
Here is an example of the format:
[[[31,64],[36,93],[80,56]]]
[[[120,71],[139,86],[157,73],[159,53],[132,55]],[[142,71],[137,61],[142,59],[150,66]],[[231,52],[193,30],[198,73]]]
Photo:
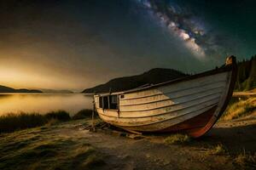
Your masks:
[[[0,84],[82,90],[256,54],[253,0],[0,0]]]

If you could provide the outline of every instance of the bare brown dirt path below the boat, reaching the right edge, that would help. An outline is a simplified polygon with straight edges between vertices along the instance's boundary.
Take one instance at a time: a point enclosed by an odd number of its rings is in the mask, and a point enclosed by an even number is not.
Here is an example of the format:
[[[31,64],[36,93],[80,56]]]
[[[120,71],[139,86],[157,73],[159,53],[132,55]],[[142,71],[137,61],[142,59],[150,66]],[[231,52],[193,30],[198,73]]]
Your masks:
[[[104,131],[92,133],[79,127],[62,129],[62,133],[83,137],[104,156],[103,169],[237,169],[230,155],[243,150],[256,151],[256,121],[220,122],[205,137],[191,144],[165,144],[165,135],[128,139]],[[229,150],[221,156],[209,155],[217,144]]]

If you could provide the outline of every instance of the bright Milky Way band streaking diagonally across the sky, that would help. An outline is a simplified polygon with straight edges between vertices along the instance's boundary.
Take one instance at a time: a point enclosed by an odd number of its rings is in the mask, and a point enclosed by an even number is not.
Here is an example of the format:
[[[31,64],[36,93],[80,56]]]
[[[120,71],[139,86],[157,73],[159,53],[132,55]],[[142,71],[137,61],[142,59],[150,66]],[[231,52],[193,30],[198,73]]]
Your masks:
[[[218,54],[221,48],[214,42],[215,37],[207,34],[203,23],[190,14],[187,8],[165,2],[166,10],[163,11],[159,8],[159,2],[137,0],[137,3],[143,4],[148,10],[153,10],[160,22],[170,30],[170,33],[179,37],[197,59],[205,59],[207,54]]]

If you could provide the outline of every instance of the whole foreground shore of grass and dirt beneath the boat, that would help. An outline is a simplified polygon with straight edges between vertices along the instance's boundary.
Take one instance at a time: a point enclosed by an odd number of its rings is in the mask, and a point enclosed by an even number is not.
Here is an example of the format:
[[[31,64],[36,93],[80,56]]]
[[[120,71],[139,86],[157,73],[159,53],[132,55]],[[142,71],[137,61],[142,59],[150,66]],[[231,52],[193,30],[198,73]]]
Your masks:
[[[0,169],[253,169],[256,115],[218,122],[189,144],[166,144],[165,135],[131,139],[109,130],[84,129],[90,120],[59,123],[0,135]],[[218,144],[224,153],[213,153]]]

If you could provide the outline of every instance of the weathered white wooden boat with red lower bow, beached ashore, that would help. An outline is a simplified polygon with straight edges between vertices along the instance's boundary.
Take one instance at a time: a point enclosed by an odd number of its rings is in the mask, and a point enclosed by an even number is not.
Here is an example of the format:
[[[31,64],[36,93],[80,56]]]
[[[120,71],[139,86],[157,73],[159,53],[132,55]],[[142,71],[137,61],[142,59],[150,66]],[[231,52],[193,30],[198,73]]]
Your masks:
[[[178,132],[200,137],[223,114],[236,82],[236,58],[170,82],[124,92],[94,95],[104,122],[137,132]]]

